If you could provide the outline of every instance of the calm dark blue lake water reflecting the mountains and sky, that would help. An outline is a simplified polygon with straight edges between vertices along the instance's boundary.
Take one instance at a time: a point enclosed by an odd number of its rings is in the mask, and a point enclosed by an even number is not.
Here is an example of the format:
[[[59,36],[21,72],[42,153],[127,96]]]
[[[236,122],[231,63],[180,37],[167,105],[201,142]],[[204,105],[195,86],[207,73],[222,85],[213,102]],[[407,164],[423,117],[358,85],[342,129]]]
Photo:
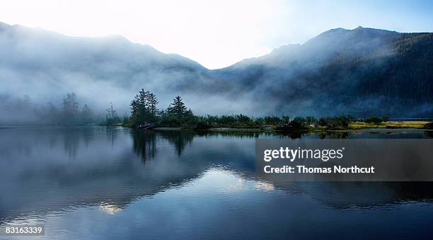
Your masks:
[[[433,237],[432,183],[262,181],[256,137],[433,136],[3,128],[0,224],[45,224],[46,239]]]

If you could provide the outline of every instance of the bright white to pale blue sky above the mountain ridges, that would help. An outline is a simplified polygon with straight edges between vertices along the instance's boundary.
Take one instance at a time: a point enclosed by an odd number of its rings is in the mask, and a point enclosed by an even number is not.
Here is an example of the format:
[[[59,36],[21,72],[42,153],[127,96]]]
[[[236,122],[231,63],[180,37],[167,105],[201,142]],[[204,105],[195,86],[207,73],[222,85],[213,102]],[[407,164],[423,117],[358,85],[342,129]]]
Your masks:
[[[123,35],[209,69],[331,28],[433,32],[433,1],[1,0],[0,21],[83,37]]]

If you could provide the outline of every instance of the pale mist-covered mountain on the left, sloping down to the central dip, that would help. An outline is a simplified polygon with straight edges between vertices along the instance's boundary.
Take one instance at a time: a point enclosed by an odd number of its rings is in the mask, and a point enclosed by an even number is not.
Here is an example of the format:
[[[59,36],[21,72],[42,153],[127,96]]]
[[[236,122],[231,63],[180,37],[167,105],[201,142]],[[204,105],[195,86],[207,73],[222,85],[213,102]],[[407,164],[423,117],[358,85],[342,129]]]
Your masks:
[[[142,87],[173,93],[202,81],[209,72],[186,57],[163,54],[119,35],[74,38],[5,23],[0,24],[0,52],[3,98],[28,95],[33,101],[56,101],[75,91],[96,108],[112,101],[127,109]]]

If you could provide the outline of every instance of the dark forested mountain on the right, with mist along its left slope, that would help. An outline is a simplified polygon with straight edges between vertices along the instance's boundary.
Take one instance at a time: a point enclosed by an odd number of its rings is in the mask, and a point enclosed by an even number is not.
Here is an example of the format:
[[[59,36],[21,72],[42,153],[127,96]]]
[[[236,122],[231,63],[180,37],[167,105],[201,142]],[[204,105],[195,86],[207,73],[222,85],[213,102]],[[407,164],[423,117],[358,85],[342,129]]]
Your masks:
[[[284,113],[433,116],[433,34],[328,30],[219,69]]]

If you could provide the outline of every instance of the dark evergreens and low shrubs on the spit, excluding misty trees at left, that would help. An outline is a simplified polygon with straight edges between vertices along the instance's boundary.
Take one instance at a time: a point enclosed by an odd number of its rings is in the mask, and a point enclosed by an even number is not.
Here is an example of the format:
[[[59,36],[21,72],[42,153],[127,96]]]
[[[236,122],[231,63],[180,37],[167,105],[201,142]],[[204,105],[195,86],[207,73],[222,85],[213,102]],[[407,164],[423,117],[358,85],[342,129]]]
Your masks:
[[[131,117],[125,120],[126,125],[137,128],[151,127],[195,127],[196,129],[206,129],[209,127],[264,127],[266,125],[277,126],[277,130],[299,130],[308,127],[325,127],[328,129],[337,129],[348,127],[350,122],[363,121],[371,124],[379,124],[388,121],[388,118],[379,118],[372,116],[366,119],[357,119],[352,115],[341,115],[333,118],[315,118],[308,116],[306,118],[296,117],[289,118],[283,115],[265,116],[262,118],[251,118],[247,115],[204,115],[197,116],[187,108],[183,99],[176,96],[168,108],[158,110],[156,105],[158,99],[154,93],[145,91],[143,88],[130,103]]]

